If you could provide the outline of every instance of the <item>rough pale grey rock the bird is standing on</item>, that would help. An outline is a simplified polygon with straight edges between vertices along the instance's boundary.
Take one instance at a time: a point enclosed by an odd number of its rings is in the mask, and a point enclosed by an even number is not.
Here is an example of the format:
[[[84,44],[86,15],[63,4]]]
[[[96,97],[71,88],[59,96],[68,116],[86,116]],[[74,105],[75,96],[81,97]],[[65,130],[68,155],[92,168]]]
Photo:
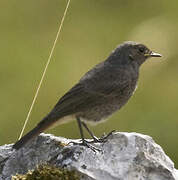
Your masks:
[[[114,133],[105,143],[93,144],[102,152],[67,145],[70,141],[41,134],[18,151],[12,145],[0,146],[0,180],[45,162],[76,169],[82,180],[178,180],[173,162],[149,136]]]

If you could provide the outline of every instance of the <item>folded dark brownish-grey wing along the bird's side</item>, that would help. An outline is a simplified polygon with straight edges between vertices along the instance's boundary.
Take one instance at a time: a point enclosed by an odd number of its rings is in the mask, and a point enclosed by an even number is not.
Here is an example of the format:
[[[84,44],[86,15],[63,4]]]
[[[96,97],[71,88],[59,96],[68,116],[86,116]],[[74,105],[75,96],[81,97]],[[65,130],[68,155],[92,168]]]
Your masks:
[[[51,115],[70,115],[77,112],[85,111],[94,106],[98,106],[107,99],[112,98],[115,92],[119,95],[120,87],[114,81],[112,83],[99,83],[87,88],[84,84],[78,83],[69,90],[55,105]]]

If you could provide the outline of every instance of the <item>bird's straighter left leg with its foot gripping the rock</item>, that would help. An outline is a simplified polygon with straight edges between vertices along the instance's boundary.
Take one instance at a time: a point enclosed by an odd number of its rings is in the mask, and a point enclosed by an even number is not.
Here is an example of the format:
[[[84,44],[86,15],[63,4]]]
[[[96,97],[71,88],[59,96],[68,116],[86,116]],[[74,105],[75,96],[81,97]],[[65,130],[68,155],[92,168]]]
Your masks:
[[[80,118],[77,117],[76,119],[77,119],[79,131],[80,131],[82,143],[77,143],[77,142],[70,142],[70,143],[73,143],[73,144],[75,144],[75,145],[83,145],[83,146],[86,146],[86,147],[90,148],[91,150],[93,150],[94,152],[96,152],[96,151],[101,151],[100,149],[98,149],[98,148],[90,145],[90,144],[89,144],[89,143],[91,143],[90,141],[85,140],[84,134],[83,134],[83,129],[82,129],[82,122],[81,122]]]

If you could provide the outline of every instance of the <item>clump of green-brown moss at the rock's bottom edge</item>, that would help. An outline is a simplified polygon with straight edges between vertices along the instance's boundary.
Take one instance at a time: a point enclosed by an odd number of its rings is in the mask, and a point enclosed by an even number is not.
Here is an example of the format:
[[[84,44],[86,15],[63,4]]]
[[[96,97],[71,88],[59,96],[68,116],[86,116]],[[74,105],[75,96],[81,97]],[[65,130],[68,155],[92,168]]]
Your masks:
[[[51,165],[39,165],[25,175],[17,174],[12,180],[79,180],[79,174],[72,170],[57,168]]]

